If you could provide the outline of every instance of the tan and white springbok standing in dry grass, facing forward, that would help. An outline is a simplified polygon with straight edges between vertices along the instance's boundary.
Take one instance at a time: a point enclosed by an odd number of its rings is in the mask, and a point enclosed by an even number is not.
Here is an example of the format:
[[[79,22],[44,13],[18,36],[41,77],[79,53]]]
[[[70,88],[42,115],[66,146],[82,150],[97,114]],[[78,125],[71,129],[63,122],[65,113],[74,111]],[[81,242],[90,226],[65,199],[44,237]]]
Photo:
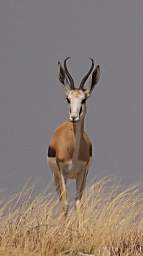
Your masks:
[[[76,208],[80,207],[80,200],[92,157],[92,143],[84,131],[86,100],[100,78],[100,66],[96,66],[93,71],[94,60],[90,58],[91,68],[82,79],[79,88],[75,88],[74,80],[66,64],[68,59],[70,57],[64,60],[64,66],[58,62],[58,75],[64,86],[66,100],[69,104],[69,120],[64,121],[57,127],[48,148],[48,164],[53,172],[56,189],[65,215],[68,211],[66,190],[68,178],[76,179]],[[84,84],[91,73],[90,88],[85,89]]]

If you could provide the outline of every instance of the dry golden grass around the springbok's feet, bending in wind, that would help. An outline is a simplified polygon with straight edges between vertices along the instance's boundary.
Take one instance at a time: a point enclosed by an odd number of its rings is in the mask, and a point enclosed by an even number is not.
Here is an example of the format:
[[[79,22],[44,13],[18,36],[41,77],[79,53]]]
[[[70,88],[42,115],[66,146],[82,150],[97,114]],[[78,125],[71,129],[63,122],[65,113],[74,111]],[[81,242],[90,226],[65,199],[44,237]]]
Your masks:
[[[24,189],[0,210],[0,256],[143,255],[143,197],[139,187],[121,190],[108,178],[86,189],[77,214],[66,219],[49,193],[31,199]]]

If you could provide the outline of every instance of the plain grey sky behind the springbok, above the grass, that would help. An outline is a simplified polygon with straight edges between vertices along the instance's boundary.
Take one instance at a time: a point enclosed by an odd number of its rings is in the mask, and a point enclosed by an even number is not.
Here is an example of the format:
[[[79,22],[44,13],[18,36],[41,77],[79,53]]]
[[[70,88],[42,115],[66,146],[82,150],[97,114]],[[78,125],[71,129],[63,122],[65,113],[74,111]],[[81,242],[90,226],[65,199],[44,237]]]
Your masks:
[[[57,63],[67,56],[77,86],[89,57],[101,66],[85,120],[88,179],[143,181],[142,11],[142,0],[0,1],[0,191],[52,181],[48,144],[68,118]]]

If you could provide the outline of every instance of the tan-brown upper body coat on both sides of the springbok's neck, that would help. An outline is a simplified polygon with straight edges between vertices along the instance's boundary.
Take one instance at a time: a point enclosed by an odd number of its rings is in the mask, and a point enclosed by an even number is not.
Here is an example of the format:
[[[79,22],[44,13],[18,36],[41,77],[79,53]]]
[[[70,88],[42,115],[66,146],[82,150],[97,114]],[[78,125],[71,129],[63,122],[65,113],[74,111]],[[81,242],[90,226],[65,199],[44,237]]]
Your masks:
[[[59,161],[72,160],[75,151],[74,123],[65,121],[55,130],[48,150],[48,157],[56,157]],[[89,161],[92,156],[92,144],[88,135],[83,132],[80,140],[78,160]]]

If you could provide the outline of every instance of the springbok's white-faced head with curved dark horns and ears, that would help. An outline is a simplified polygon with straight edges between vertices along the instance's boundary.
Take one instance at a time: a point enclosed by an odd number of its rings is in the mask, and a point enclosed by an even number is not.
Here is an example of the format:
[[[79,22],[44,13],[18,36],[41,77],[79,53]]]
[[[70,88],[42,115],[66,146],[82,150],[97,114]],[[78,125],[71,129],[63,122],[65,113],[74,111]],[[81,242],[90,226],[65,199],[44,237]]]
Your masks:
[[[58,62],[58,75],[60,82],[64,85],[65,94],[67,102],[69,103],[69,119],[72,122],[77,122],[81,118],[83,118],[86,114],[86,100],[91,95],[95,85],[99,81],[100,78],[100,66],[97,65],[94,69],[94,60],[91,60],[91,67],[87,74],[81,80],[81,83],[78,88],[74,86],[74,80],[70,75],[67,68],[67,60],[70,57],[67,57],[64,60],[64,65],[62,66],[60,62]],[[94,70],[93,70],[94,69]],[[93,71],[93,72],[92,72]],[[89,88],[84,88],[84,85],[91,75],[91,82]]]

